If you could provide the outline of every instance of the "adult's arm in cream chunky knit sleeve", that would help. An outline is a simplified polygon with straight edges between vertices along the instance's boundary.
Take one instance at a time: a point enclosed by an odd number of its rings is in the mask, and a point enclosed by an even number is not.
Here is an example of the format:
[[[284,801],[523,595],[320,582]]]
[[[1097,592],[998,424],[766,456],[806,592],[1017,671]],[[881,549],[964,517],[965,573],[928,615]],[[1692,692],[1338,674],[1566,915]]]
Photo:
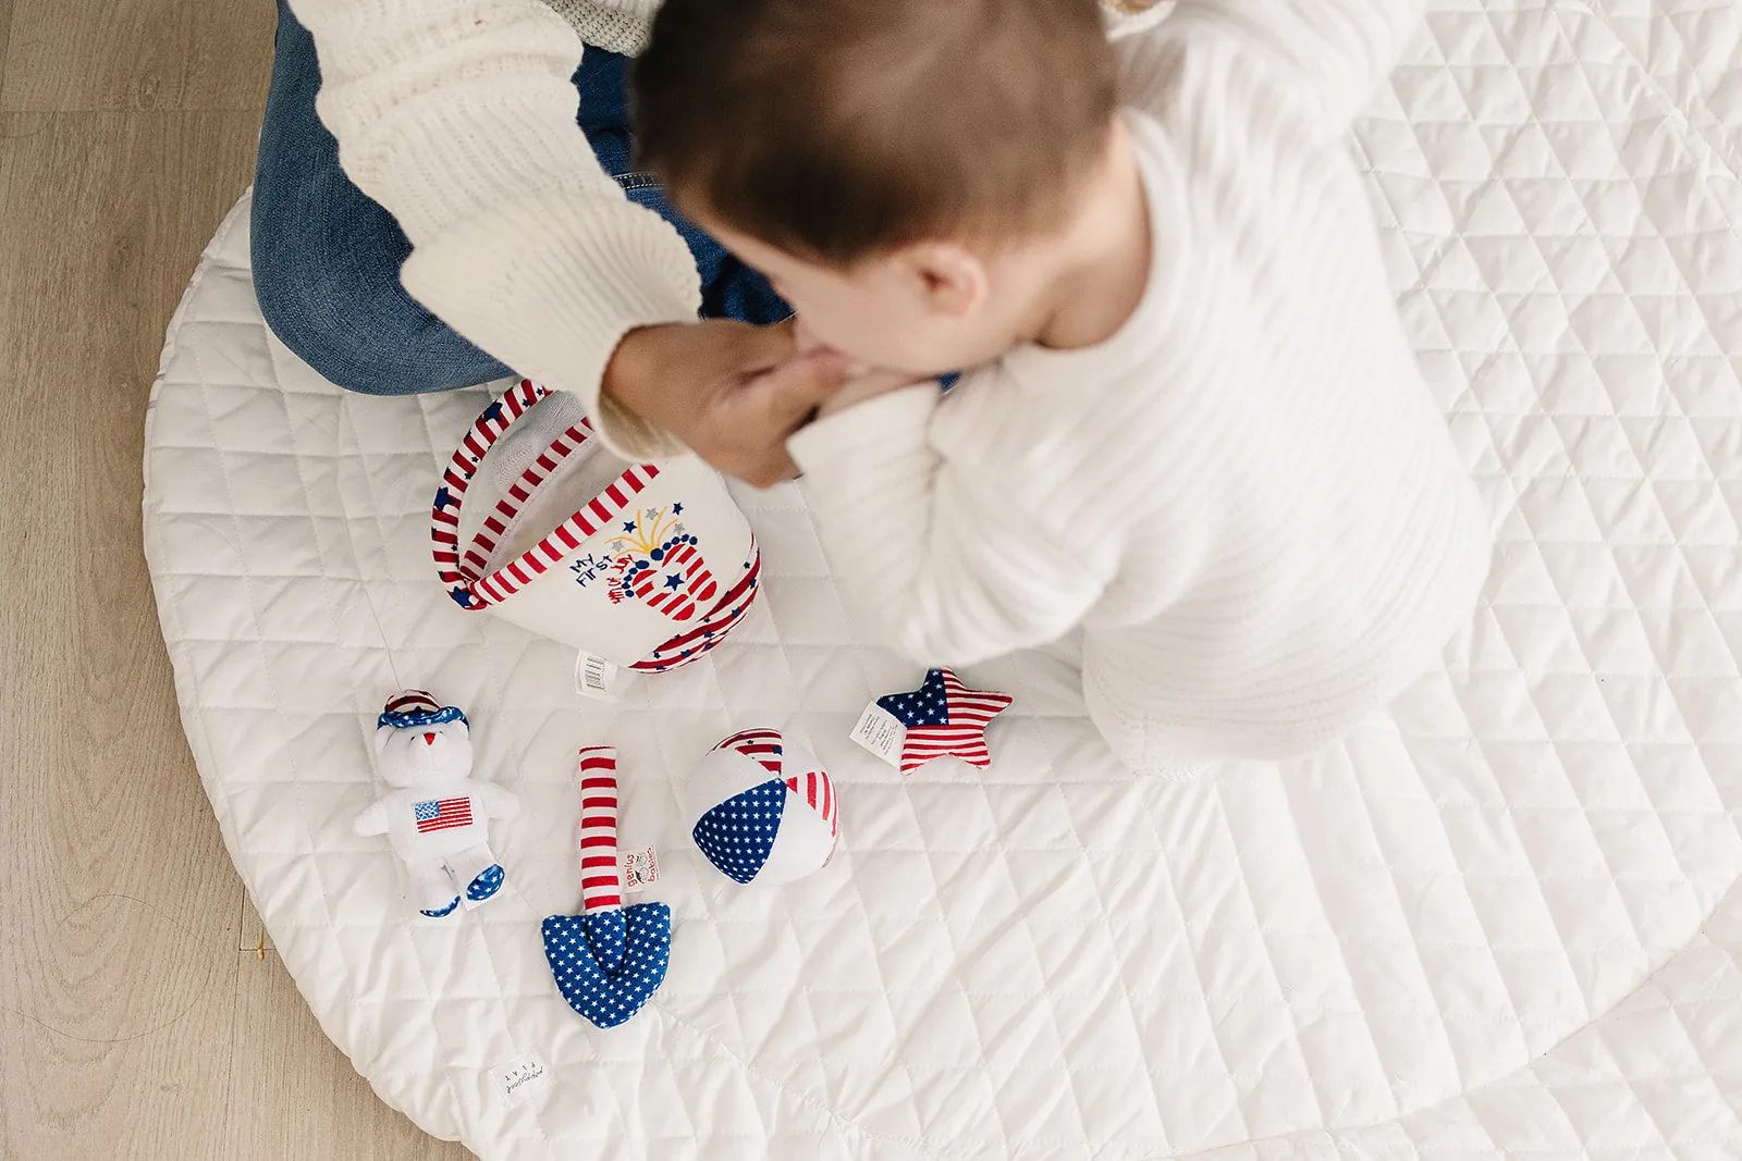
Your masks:
[[[575,124],[582,45],[540,0],[291,0],[345,174],[399,219],[406,289],[517,372],[575,392],[631,458],[678,449],[599,385],[632,329],[692,322],[695,259]]]

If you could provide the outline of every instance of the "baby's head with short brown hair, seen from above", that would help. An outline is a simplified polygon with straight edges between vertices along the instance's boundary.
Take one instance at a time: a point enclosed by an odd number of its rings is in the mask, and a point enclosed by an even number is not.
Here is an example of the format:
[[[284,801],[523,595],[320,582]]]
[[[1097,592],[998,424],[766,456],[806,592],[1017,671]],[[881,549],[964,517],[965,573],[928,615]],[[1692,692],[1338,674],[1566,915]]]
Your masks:
[[[634,89],[674,204],[913,374],[1024,338],[1117,134],[1097,0],[665,0]]]

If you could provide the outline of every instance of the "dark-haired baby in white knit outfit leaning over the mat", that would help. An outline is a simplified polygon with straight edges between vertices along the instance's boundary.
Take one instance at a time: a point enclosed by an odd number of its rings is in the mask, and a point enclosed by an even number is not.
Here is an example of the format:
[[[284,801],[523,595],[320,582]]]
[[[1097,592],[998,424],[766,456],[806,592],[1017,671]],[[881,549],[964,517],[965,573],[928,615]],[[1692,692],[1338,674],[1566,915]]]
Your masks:
[[[890,646],[1080,627],[1113,752],[1181,769],[1336,740],[1469,621],[1488,520],[1343,143],[1415,14],[667,0],[645,162],[887,369],[789,449]]]

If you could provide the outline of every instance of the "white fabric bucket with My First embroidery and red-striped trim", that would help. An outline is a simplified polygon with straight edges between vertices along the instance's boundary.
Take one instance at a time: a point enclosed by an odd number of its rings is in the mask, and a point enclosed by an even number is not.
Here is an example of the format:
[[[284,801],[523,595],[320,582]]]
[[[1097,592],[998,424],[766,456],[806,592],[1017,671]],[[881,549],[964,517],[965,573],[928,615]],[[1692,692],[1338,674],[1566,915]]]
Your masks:
[[[624,465],[577,418],[467,513],[491,446],[549,393],[517,383],[442,472],[430,540],[448,595],[624,668],[693,661],[744,618],[761,573],[744,513],[700,460]]]

